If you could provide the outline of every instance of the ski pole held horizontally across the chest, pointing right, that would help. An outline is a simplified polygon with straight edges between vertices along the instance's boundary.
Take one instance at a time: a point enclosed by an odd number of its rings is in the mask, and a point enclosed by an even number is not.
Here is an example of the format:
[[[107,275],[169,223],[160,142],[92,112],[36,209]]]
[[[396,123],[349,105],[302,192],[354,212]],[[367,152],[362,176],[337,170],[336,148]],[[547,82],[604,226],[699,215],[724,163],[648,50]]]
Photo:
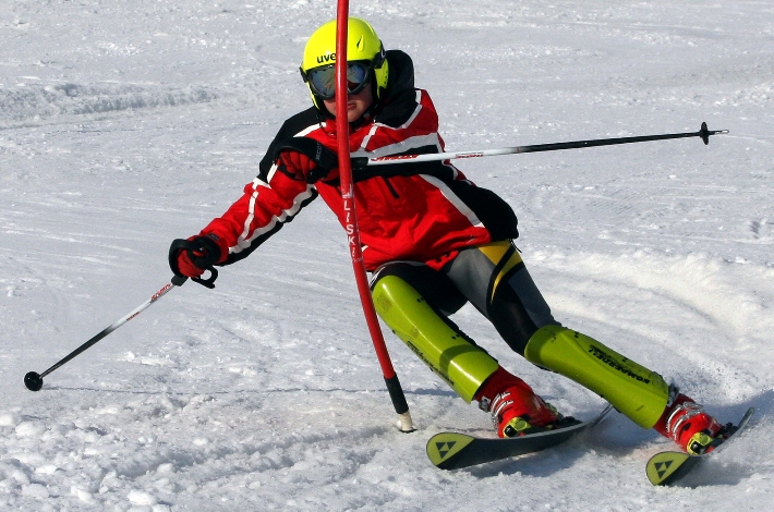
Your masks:
[[[479,149],[473,151],[438,153],[431,155],[387,155],[383,157],[354,157],[352,167],[364,169],[367,166],[385,166],[388,163],[413,163],[438,160],[451,160],[456,158],[480,158],[493,157],[497,155],[515,155],[520,153],[556,151],[559,149],[578,149],[583,147],[613,146],[617,144],[644,143],[649,141],[665,141],[668,138],[701,137],[704,144],[710,144],[711,135],[728,133],[728,130],[710,131],[706,123],[701,123],[701,130],[688,133],[665,133],[661,135],[641,135],[637,137],[618,138],[595,138],[592,141],[571,141],[566,143],[535,144],[532,146],[501,147],[496,149]]]

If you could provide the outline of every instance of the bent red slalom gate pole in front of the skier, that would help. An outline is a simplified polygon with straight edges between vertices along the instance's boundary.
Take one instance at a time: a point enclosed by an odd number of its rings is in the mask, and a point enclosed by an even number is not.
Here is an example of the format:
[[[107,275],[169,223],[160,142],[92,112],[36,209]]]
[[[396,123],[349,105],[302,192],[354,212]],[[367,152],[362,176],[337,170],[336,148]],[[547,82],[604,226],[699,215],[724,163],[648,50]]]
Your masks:
[[[349,21],[349,1],[338,0],[336,15],[336,133],[338,134],[338,156],[339,156],[339,180],[341,182],[341,199],[346,214],[344,229],[349,237],[350,256],[354,268],[354,278],[358,282],[360,302],[363,304],[365,321],[368,326],[371,340],[376,350],[376,356],[382,366],[387,391],[389,392],[395,412],[400,418],[400,430],[410,432],[414,430],[409,404],[406,402],[403,388],[400,386],[398,376],[392,367],[392,361],[387,352],[387,344],[379,328],[376,317],[374,301],[371,296],[368,277],[363,263],[363,252],[360,245],[360,229],[358,227],[358,214],[354,207],[354,187],[352,184],[352,161],[350,159],[349,147],[349,122],[347,120],[347,35]],[[341,94],[342,92],[343,94]]]

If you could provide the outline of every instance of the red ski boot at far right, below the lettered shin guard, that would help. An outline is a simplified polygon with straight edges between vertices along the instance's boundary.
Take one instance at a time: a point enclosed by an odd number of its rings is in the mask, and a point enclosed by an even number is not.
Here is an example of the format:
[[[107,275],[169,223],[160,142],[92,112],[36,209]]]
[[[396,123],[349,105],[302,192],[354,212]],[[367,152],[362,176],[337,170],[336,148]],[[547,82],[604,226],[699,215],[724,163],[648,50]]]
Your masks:
[[[734,434],[731,424],[721,425],[691,398],[669,386],[669,401],[664,414],[653,427],[662,436],[677,442],[690,455],[701,455],[715,449]]]

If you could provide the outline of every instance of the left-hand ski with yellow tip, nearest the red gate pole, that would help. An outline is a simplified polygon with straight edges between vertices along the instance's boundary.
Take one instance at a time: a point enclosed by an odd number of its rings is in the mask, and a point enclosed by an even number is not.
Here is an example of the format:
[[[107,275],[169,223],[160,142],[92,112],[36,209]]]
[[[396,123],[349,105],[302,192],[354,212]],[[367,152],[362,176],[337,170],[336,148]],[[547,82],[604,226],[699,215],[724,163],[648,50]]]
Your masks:
[[[607,405],[596,417],[556,430],[546,430],[512,438],[480,438],[459,432],[436,434],[427,441],[427,456],[440,470],[485,464],[511,456],[525,455],[566,442],[597,425],[613,410]]]

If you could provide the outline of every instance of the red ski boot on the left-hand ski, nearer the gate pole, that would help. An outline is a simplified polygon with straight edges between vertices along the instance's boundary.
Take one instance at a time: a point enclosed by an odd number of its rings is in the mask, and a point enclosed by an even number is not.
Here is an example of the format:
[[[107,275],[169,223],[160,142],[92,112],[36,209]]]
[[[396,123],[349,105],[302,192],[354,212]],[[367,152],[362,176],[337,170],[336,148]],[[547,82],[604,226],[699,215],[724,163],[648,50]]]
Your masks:
[[[492,424],[499,437],[516,437],[551,430],[567,424],[555,407],[537,397],[527,382],[501,366],[476,393],[479,407],[492,413]]]

